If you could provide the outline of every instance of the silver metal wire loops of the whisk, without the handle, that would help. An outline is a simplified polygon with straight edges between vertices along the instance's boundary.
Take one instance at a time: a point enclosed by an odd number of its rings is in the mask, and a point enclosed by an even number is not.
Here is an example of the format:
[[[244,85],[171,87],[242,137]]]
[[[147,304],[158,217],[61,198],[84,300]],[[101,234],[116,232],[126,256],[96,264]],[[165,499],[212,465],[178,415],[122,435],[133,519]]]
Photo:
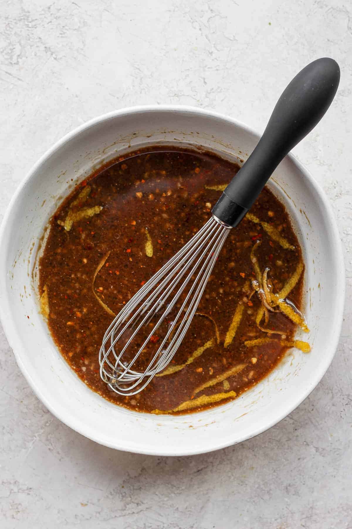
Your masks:
[[[99,352],[100,376],[111,390],[120,395],[135,395],[172,360],[191,325],[229,229],[229,226],[224,226],[211,217],[201,230],[138,290],[111,322]],[[178,312],[169,323],[148,365],[137,370],[136,361],[146,351],[153,335],[156,335],[183,293],[185,296],[182,303],[179,307],[176,306]],[[153,324],[151,320],[155,317],[158,320]],[[143,337],[141,345],[138,344],[139,349],[134,357],[128,361],[123,360],[123,355],[127,353],[137,334],[145,330],[148,324],[151,330],[147,331],[148,335]],[[127,340],[123,341],[126,333]],[[119,343],[121,340],[122,345]],[[116,351],[116,346],[119,351]]]

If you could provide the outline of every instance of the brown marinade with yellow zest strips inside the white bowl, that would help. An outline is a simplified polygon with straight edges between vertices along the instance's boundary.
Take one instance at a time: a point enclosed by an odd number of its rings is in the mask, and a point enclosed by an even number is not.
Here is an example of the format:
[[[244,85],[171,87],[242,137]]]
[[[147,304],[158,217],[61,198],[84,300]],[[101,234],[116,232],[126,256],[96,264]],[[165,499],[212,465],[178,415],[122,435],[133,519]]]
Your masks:
[[[294,342],[296,323],[305,330],[300,313],[274,297],[289,291],[301,308],[301,249],[285,208],[265,187],[231,230],[165,371],[132,397],[100,379],[98,353],[113,314],[208,220],[238,169],[211,153],[139,150],[80,184],[52,217],[40,260],[43,313],[69,366],[102,397],[140,412],[199,411],[240,395],[303,343]],[[263,308],[265,293],[275,312]]]

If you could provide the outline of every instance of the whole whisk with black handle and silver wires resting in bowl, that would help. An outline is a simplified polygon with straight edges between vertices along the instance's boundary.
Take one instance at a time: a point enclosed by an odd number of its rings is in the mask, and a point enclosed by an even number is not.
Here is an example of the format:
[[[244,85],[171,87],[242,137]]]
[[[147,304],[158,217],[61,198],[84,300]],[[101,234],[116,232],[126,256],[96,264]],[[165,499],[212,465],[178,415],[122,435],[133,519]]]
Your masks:
[[[248,212],[284,156],[325,114],[339,78],[339,67],[329,58],[311,62],[294,77],[258,145],[213,207],[211,218],[109,325],[99,363],[100,376],[110,390],[135,395],[173,359],[227,235]]]

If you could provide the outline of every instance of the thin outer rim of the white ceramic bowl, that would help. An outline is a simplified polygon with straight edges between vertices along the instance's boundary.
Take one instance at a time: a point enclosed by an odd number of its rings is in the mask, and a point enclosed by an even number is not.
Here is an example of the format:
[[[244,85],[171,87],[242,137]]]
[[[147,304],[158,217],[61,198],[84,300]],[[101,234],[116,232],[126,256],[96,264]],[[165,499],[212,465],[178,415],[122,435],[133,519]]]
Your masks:
[[[344,303],[345,303],[345,265],[344,265],[344,257],[343,257],[343,248],[342,243],[340,240],[338,227],[335,219],[335,215],[332,211],[332,207],[330,205],[330,202],[325,195],[324,190],[320,187],[320,185],[317,183],[317,181],[312,177],[310,172],[302,165],[302,163],[292,154],[289,153],[287,156],[288,158],[293,162],[293,165],[296,166],[302,174],[305,176],[306,179],[308,179],[310,185],[313,187],[315,192],[317,193],[321,205],[325,208],[325,212],[329,218],[330,221],[330,229],[332,232],[332,241],[334,244],[334,247],[331,248],[332,257],[334,259],[334,266],[338,272],[338,277],[336,278],[336,284],[337,284],[337,291],[339,292],[339,296],[336,299],[336,306],[337,306],[337,312],[336,312],[336,321],[338,325],[335,326],[334,332],[332,334],[331,338],[331,347],[330,347],[330,353],[326,355],[326,361],[320,365],[319,371],[316,372],[315,377],[310,381],[310,385],[306,389],[306,391],[303,394],[299,394],[295,400],[291,400],[291,404],[284,409],[284,411],[278,413],[275,415],[271,421],[269,421],[265,426],[261,428],[255,429],[253,427],[252,434],[244,434],[240,439],[226,442],[212,442],[212,445],[210,445],[207,450],[204,449],[197,449],[194,445],[193,448],[190,447],[187,450],[182,450],[180,452],[172,452],[168,450],[167,448],[164,448],[164,446],[161,448],[160,446],[156,450],[150,450],[150,449],[143,449],[142,446],[136,447],[136,446],[128,446],[127,443],[120,443],[119,440],[116,442],[107,442],[106,439],[102,439],[100,437],[99,432],[96,433],[92,428],[90,427],[83,427],[80,425],[75,424],[75,421],[71,419],[71,417],[65,417],[62,413],[60,413],[55,408],[55,402],[52,403],[50,398],[47,398],[43,393],[42,390],[36,385],[35,381],[32,379],[30,373],[27,372],[23,361],[21,359],[21,341],[18,337],[18,332],[16,330],[16,327],[14,325],[14,322],[11,320],[11,318],[7,318],[6,314],[9,313],[11,304],[9,303],[9,299],[7,296],[7,290],[6,290],[6,281],[7,281],[7,274],[6,274],[6,250],[7,250],[7,244],[6,244],[6,230],[7,230],[7,224],[11,217],[11,212],[14,207],[14,204],[16,203],[16,200],[21,195],[23,188],[26,186],[27,182],[30,181],[36,174],[37,170],[40,168],[40,166],[49,158],[52,156],[53,153],[58,151],[59,149],[62,149],[64,145],[68,142],[70,142],[71,139],[73,139],[75,136],[79,135],[81,132],[86,131],[90,129],[91,127],[102,123],[104,121],[108,121],[115,117],[120,117],[127,114],[138,114],[138,113],[145,113],[145,112],[174,112],[174,113],[196,113],[198,115],[203,115],[210,118],[216,118],[218,120],[224,120],[227,123],[230,123],[256,137],[258,139],[260,138],[260,134],[252,129],[252,127],[246,125],[245,123],[236,120],[233,117],[227,116],[225,114],[221,114],[218,112],[215,112],[213,110],[207,110],[203,108],[198,108],[195,106],[188,106],[188,105],[139,105],[139,106],[131,106],[131,107],[124,107],[119,110],[114,110],[105,114],[101,114],[100,116],[94,117],[91,120],[83,123],[82,125],[76,127],[72,131],[65,134],[60,140],[56,141],[52,147],[46,150],[44,154],[37,160],[37,162],[32,166],[30,171],[27,172],[26,176],[21,181],[20,185],[17,187],[13,197],[11,198],[5,215],[3,217],[3,221],[0,225],[0,248],[2,248],[2,252],[0,253],[0,321],[2,323],[5,336],[7,338],[7,341],[9,343],[10,348],[12,349],[12,352],[15,356],[16,362],[18,364],[18,367],[22,371],[23,376],[25,377],[26,381],[34,391],[35,395],[41,400],[41,402],[45,405],[47,409],[61,422],[66,424],[66,426],[69,426],[72,428],[72,430],[80,433],[81,435],[84,435],[85,437],[88,437],[88,439],[91,439],[94,442],[97,442],[99,444],[102,444],[104,446],[108,446],[109,448],[113,448],[116,450],[123,450],[128,452],[134,452],[134,453],[141,453],[146,455],[195,455],[199,453],[206,453],[206,452],[212,452],[214,450],[219,450],[222,448],[225,448],[226,446],[231,446],[232,444],[239,443],[242,441],[245,441],[247,439],[251,439],[252,437],[259,435],[260,433],[269,430],[272,426],[282,421],[283,418],[287,417],[294,409],[296,409],[302,402],[305,400],[311,393],[313,389],[319,384],[322,377],[324,377],[327,369],[329,368],[332,359],[334,358],[334,355],[337,350],[338,341],[340,337],[341,332],[341,326],[343,323],[343,313],[344,313]]]

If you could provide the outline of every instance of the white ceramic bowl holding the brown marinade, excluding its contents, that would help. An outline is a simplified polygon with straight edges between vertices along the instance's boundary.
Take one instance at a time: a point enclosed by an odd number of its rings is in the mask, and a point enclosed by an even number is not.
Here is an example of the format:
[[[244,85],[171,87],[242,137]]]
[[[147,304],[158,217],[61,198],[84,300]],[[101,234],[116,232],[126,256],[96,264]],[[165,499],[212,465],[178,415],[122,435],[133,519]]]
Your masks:
[[[280,164],[270,187],[286,204],[303,248],[305,313],[311,329],[305,339],[312,351],[292,351],[240,398],[184,416],[139,414],[110,404],[69,368],[39,314],[31,272],[40,237],[62,198],[93,168],[137,146],[160,143],[202,145],[224,157],[245,159],[258,139],[245,125],[199,108],[127,108],[67,134],[17,189],[0,232],[1,320],[18,366],[36,395],[77,432],[112,448],[146,454],[216,450],[273,426],[309,395],[326,372],[343,316],[343,257],[327,199],[293,156]]]

